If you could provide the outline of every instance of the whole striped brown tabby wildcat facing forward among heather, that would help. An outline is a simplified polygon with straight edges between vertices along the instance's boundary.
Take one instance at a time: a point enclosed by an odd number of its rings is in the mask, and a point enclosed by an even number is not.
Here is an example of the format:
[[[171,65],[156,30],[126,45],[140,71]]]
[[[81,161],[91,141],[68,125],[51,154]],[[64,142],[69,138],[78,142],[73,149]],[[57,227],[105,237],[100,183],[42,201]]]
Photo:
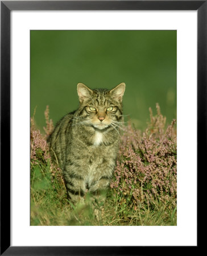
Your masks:
[[[114,89],[89,89],[79,83],[79,107],[65,115],[48,138],[52,158],[60,165],[69,199],[84,201],[107,190],[113,176],[123,121],[125,83]]]

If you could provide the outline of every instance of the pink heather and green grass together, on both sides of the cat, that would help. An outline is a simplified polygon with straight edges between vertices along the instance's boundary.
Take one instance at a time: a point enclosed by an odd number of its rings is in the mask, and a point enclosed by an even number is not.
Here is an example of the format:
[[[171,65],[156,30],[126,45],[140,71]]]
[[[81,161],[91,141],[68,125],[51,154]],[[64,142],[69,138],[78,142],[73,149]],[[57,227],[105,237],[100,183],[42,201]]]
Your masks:
[[[123,127],[101,220],[90,204],[68,201],[62,172],[48,152],[46,139],[53,130],[48,106],[44,114],[45,134],[31,118],[31,225],[176,225],[175,120],[166,127],[158,104],[143,132],[130,120]]]

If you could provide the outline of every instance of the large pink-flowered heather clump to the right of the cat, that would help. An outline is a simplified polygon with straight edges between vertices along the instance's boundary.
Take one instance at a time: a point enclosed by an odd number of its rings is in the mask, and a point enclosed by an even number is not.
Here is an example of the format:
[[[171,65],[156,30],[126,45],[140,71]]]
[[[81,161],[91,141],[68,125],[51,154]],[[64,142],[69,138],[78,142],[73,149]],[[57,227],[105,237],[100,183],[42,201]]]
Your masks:
[[[150,123],[143,134],[129,123],[122,136],[117,166],[111,188],[132,192],[134,203],[153,207],[156,198],[176,205],[177,160],[175,119],[165,130],[166,118],[156,104],[157,114],[150,109]],[[123,187],[123,184],[125,184]],[[132,186],[133,185],[133,186]]]

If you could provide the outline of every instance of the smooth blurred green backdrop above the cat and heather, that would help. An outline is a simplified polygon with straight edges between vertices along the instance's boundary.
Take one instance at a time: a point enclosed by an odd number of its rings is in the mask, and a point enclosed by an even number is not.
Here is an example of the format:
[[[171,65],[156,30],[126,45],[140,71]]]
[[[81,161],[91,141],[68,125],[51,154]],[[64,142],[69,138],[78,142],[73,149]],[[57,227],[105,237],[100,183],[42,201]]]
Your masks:
[[[139,129],[158,102],[176,118],[176,31],[31,31],[31,115],[56,123],[77,109],[77,84],[112,89],[126,83],[124,114]],[[127,121],[127,118],[126,118]]]

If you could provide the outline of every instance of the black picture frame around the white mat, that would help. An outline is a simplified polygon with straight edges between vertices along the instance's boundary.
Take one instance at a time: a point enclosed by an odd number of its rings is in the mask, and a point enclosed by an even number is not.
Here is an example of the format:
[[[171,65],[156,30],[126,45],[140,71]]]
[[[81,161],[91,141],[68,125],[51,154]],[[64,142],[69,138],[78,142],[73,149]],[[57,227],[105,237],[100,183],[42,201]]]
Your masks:
[[[197,177],[207,155],[207,1],[1,1],[1,255],[148,255],[155,246],[10,246],[10,14],[12,10],[197,10]],[[198,196],[198,201],[200,197]],[[198,244],[199,245],[199,244]],[[192,246],[191,251],[197,250]],[[139,247],[139,248],[138,248]],[[183,246],[181,246],[183,247]],[[179,250],[181,250],[181,247]],[[186,253],[186,247],[183,248]]]

